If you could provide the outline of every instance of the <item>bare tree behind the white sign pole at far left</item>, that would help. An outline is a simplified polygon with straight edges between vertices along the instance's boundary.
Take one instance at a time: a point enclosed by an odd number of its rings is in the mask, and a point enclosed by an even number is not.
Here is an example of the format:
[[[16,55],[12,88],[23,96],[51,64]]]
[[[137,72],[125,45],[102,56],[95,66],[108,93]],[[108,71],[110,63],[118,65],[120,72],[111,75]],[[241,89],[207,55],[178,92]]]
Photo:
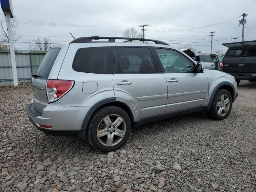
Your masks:
[[[7,21],[6,17],[4,14],[1,13],[1,16],[3,19],[0,20],[0,44],[8,44],[9,43],[9,37],[8,37],[8,31],[7,31]],[[22,35],[18,34],[16,32],[18,28],[18,22],[16,16],[11,21],[11,26],[12,26],[12,36],[13,36],[13,41],[18,41]]]

